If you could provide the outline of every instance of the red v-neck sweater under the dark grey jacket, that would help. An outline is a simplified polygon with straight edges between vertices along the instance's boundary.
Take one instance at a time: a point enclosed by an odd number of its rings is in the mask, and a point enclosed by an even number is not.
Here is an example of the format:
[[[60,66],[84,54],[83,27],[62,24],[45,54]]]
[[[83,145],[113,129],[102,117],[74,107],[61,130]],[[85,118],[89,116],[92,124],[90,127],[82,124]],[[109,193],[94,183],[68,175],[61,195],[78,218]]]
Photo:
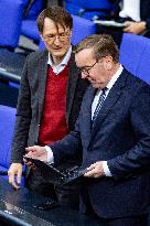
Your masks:
[[[40,123],[39,144],[51,144],[68,133],[66,125],[66,84],[68,66],[55,75],[52,67],[47,69],[43,114]]]

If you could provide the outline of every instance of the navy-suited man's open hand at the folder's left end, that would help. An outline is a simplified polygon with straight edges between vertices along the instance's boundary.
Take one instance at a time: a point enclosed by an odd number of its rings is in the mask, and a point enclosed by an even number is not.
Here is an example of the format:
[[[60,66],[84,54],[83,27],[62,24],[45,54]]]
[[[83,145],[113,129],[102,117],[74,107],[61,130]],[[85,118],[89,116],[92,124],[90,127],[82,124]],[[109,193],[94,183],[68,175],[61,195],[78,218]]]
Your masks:
[[[47,161],[47,152],[44,147],[33,146],[25,148],[25,151],[28,152],[25,155],[29,158],[39,159],[44,162]]]

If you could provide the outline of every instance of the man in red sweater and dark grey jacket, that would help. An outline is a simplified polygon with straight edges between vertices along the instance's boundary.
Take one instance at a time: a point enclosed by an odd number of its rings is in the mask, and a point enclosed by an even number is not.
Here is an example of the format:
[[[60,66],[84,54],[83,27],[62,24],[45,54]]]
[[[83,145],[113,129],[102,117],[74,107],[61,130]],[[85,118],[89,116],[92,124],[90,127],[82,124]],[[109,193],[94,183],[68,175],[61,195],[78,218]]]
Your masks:
[[[61,7],[47,8],[40,13],[38,26],[46,50],[29,55],[21,78],[9,169],[9,182],[15,189],[19,186],[14,177],[20,183],[25,147],[46,146],[73,130],[88,85],[82,80],[75,64],[71,14]],[[53,197],[56,192],[60,202],[77,205],[77,185],[54,191],[38,170],[30,171],[26,183],[34,192]]]

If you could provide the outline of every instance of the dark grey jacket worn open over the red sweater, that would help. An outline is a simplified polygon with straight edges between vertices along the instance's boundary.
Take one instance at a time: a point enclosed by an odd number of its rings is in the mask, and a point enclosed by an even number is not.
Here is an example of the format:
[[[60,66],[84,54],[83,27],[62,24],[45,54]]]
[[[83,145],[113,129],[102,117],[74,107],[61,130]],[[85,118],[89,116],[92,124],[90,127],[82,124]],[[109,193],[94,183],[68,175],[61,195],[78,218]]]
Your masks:
[[[38,144],[46,84],[47,57],[47,51],[38,51],[26,58],[17,107],[12,162],[22,162],[24,148]],[[66,122],[69,130],[74,129],[87,85],[88,83],[83,80],[78,74],[74,53],[72,53],[66,95]]]

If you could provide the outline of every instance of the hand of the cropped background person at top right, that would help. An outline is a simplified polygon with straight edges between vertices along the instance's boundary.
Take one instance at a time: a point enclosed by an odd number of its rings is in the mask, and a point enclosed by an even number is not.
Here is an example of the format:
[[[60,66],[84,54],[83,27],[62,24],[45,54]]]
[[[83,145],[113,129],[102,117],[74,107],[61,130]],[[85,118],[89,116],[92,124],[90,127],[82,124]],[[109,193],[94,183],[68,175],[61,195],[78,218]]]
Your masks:
[[[124,29],[124,32],[127,32],[127,33],[141,34],[146,30],[144,21],[141,21],[141,22],[126,21],[124,24],[127,25]]]

